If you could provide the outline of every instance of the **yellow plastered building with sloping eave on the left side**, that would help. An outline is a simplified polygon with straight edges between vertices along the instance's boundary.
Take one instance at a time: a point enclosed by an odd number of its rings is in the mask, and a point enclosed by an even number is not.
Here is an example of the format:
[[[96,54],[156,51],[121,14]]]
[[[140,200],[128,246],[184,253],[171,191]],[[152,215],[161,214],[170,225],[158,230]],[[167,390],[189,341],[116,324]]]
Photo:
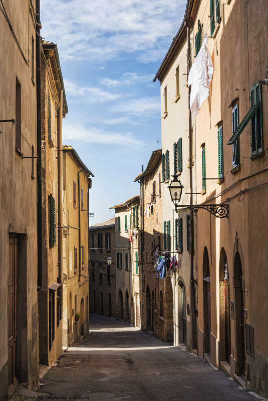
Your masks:
[[[63,345],[89,334],[89,190],[94,177],[63,146]]]

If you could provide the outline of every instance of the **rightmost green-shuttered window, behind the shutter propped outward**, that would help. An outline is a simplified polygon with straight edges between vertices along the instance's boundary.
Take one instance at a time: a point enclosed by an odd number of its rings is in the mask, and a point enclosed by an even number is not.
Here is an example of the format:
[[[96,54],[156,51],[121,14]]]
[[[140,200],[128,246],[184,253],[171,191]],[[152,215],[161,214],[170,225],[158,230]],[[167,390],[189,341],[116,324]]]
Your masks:
[[[251,118],[251,153],[257,155],[263,150],[262,97],[261,85],[250,89],[250,109],[256,108]]]

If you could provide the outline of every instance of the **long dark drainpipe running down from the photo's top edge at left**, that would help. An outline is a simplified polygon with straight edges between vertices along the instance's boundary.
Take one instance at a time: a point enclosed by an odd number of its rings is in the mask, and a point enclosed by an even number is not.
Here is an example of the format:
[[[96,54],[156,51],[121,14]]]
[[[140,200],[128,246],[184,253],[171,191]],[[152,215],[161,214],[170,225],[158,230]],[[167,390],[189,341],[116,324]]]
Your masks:
[[[38,278],[37,290],[42,288],[42,137],[41,137],[41,36],[40,0],[36,0],[36,103],[37,103],[37,238],[38,238]]]

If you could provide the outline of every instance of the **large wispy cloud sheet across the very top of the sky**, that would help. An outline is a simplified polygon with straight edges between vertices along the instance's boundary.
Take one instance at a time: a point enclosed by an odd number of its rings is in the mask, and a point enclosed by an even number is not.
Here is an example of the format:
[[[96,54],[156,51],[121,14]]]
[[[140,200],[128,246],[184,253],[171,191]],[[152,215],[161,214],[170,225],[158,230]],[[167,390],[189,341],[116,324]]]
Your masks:
[[[61,60],[111,60],[138,52],[159,61],[171,43],[186,0],[42,1],[42,36],[57,43]]]

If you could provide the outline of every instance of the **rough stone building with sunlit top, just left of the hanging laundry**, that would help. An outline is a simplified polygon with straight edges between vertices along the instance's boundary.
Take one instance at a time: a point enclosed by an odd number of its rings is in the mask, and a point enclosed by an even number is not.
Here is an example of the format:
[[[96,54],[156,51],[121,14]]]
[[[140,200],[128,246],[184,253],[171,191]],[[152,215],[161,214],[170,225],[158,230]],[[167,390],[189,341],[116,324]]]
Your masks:
[[[170,280],[157,278],[155,252],[163,256],[162,156],[152,152],[146,169],[135,178],[141,186],[141,329],[163,341],[173,339],[173,294]]]

